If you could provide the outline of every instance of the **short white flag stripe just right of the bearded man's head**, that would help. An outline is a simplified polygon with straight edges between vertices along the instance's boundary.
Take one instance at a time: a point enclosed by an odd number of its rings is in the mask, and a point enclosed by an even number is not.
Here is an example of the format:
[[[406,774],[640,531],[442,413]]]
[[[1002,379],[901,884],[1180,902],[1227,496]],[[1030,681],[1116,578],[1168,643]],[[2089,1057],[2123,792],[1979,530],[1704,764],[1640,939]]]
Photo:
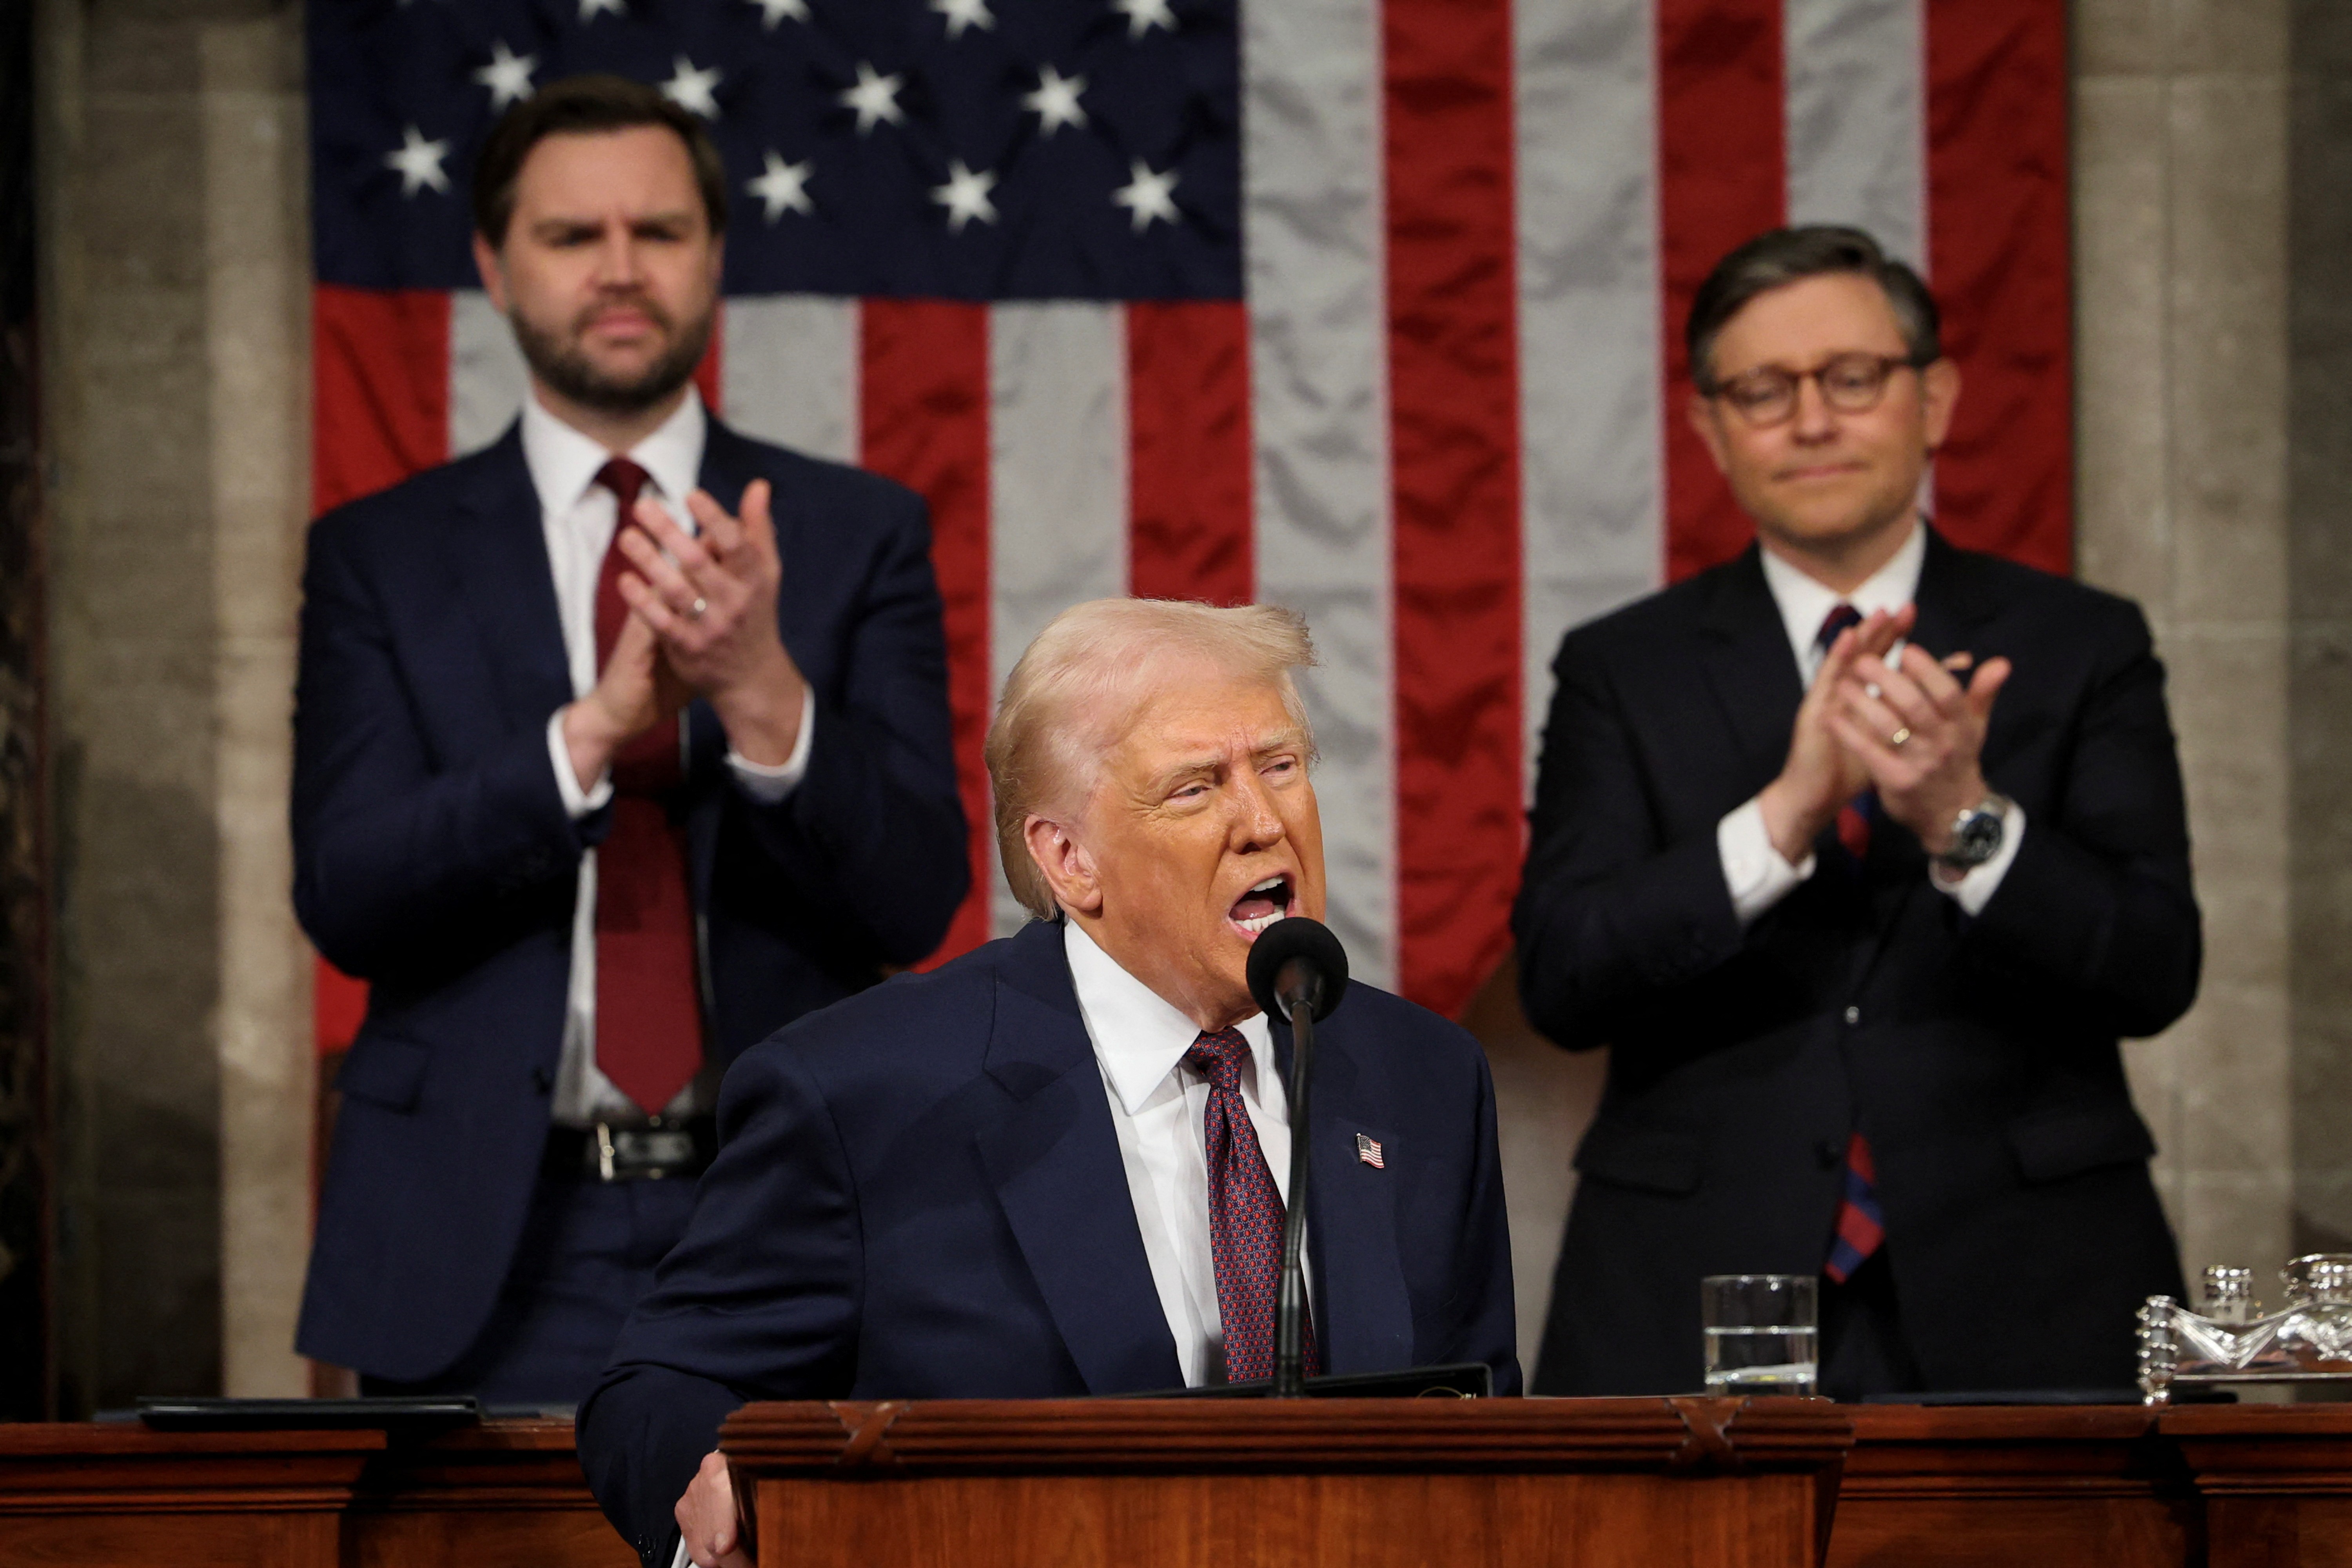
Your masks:
[[[727,423],[811,458],[858,461],[858,301],[743,294],[720,317]]]

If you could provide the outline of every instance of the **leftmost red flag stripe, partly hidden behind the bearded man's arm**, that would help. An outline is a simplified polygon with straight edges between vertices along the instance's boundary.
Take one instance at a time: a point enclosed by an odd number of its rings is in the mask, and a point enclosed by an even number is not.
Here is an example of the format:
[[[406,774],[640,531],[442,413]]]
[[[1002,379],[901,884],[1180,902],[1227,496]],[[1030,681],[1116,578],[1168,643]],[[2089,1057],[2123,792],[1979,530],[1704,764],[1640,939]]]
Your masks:
[[[310,505],[327,512],[449,461],[449,296],[437,289],[310,292]],[[343,1051],[367,985],[327,959],[310,1034]]]

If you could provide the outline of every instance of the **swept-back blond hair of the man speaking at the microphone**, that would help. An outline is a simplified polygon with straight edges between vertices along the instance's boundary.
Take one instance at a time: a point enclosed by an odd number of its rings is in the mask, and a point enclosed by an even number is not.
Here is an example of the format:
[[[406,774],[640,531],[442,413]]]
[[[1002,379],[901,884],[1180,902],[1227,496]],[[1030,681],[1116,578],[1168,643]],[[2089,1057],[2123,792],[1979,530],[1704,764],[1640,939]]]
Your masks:
[[[1174,656],[1174,658],[1171,658]],[[1054,616],[1004,677],[988,726],[988,783],[997,797],[997,858],[1014,898],[1054,917],[1054,889],[1028,856],[1028,818],[1075,813],[1120,731],[1176,661],[1207,661],[1237,679],[1263,679],[1315,755],[1315,731],[1291,670],[1315,663],[1305,616],[1272,604],[1089,599]]]

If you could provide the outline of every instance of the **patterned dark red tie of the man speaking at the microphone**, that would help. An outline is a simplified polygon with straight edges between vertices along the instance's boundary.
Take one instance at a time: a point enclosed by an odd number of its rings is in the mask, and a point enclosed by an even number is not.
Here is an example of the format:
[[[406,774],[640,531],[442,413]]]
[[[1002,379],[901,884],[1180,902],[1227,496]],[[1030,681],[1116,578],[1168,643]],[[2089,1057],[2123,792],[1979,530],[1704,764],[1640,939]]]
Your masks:
[[[1275,1295],[1282,1288],[1282,1192],[1242,1105],[1240,1030],[1202,1034],[1183,1053],[1209,1079],[1209,1253],[1216,1258],[1216,1316],[1225,1331],[1225,1380],[1275,1375]],[[1301,1326],[1305,1373],[1317,1373],[1315,1319]]]

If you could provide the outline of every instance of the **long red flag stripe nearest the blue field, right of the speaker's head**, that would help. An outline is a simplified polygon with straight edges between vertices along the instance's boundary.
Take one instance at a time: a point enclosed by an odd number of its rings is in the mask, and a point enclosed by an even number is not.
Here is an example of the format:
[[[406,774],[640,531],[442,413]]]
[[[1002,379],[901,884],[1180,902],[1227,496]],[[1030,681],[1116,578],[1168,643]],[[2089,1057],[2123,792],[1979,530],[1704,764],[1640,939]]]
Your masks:
[[[1397,978],[1454,1013],[1519,882],[1519,364],[1505,0],[1388,0]]]

